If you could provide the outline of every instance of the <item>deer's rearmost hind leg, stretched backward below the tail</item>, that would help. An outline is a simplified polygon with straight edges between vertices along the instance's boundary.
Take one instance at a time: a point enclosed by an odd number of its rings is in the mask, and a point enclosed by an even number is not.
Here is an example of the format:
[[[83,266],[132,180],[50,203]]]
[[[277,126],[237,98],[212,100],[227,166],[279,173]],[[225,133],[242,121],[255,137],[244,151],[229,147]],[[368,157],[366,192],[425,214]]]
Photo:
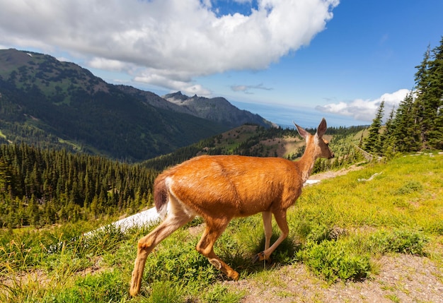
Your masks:
[[[130,286],[130,295],[132,295],[132,297],[138,295],[140,292],[144,265],[154,247],[195,217],[195,215],[192,215],[186,210],[175,198],[170,198],[168,208],[168,216],[166,219],[156,227],[155,230],[142,237],[142,239],[139,239],[137,259],[135,259]]]

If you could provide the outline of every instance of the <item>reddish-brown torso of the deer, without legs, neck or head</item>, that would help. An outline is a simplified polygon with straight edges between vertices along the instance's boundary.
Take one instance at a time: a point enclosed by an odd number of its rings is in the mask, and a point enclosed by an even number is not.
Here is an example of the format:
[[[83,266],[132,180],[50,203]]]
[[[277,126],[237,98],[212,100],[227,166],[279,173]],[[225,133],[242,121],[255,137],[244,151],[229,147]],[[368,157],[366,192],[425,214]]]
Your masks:
[[[287,208],[303,185],[294,162],[236,155],[192,158],[161,177],[171,194],[200,215],[230,217]]]

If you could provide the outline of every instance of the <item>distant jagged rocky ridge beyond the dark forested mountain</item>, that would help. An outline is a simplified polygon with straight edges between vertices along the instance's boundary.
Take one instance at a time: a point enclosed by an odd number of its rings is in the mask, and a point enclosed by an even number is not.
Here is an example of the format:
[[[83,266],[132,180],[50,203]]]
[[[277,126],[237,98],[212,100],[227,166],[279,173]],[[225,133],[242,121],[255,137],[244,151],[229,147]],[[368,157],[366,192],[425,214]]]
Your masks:
[[[224,97],[207,98],[198,97],[197,95],[188,97],[179,91],[177,93],[164,95],[163,99],[183,109],[187,109],[188,113],[196,117],[217,121],[231,127],[246,123],[258,124],[265,127],[275,126],[258,114],[252,114],[246,110],[238,109],[234,105],[231,105]]]

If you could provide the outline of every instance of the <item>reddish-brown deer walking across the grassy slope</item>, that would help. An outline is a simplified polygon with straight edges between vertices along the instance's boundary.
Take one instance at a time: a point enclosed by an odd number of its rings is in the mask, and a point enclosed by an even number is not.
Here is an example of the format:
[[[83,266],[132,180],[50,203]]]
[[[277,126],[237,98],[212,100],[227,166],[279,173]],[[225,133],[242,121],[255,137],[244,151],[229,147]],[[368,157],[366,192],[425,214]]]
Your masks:
[[[306,149],[297,161],[242,155],[201,155],[168,168],[154,181],[154,203],[163,222],[139,239],[132,271],[130,295],[139,294],[148,255],[170,234],[196,216],[205,221],[197,251],[228,278],[238,273],[214,253],[214,243],[234,218],[262,213],[265,249],[253,261],[270,261],[270,255],[289,234],[287,209],[301,195],[317,158],[333,158],[322,119],[315,135],[295,124],[306,140]],[[274,215],[280,236],[270,245]]]

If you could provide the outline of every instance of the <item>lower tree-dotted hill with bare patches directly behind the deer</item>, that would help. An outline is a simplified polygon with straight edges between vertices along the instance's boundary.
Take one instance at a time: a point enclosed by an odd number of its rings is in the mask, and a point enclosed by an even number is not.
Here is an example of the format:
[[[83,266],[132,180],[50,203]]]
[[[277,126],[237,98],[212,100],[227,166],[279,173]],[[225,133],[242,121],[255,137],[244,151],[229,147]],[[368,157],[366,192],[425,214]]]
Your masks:
[[[359,144],[364,129],[365,126],[329,128],[325,138],[330,141],[335,159],[318,161],[315,171],[342,167],[360,160],[362,157],[355,150],[355,145]],[[311,133],[316,131],[307,130]],[[173,153],[146,160],[143,165],[161,171],[197,155],[248,155],[295,160],[303,155],[304,147],[305,143],[295,129],[266,129],[262,126],[245,124],[184,148],[178,148]]]

